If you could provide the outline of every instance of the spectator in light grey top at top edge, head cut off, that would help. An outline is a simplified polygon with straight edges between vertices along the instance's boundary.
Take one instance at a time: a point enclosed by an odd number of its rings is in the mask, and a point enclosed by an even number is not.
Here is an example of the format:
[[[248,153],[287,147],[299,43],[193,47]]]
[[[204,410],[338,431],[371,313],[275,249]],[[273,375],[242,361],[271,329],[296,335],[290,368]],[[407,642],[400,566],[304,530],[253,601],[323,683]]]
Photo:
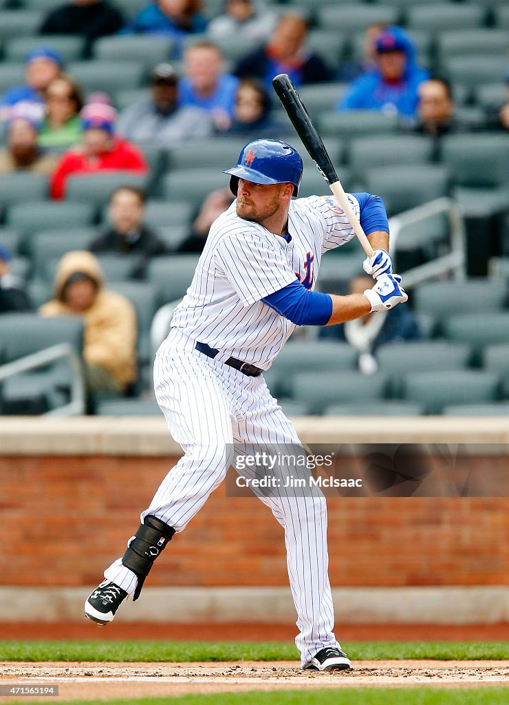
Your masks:
[[[215,41],[227,37],[244,37],[264,41],[276,23],[261,0],[226,0],[225,13],[215,17],[207,27],[207,34]]]

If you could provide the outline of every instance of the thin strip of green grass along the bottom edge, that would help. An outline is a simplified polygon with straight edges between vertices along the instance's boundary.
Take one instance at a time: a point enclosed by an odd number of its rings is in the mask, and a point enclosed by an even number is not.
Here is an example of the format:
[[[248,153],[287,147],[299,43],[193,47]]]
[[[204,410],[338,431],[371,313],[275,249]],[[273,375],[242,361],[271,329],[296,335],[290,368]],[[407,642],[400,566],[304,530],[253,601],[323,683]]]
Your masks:
[[[506,705],[508,689],[487,688],[339,688],[251,691],[171,698],[108,700],[108,705]],[[57,701],[51,701],[56,703]],[[30,705],[16,700],[11,705]],[[49,704],[48,704],[49,705]],[[58,705],[97,705],[97,701],[63,701]]]

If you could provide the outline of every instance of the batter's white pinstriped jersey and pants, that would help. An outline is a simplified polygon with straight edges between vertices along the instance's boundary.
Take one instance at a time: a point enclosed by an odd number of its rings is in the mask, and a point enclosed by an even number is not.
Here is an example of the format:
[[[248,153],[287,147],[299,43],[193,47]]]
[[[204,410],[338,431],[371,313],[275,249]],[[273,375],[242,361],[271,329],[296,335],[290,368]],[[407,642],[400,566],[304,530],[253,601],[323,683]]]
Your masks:
[[[348,198],[359,216],[357,200]],[[260,299],[296,275],[303,281],[313,274],[314,288],[322,254],[354,234],[330,198],[317,196],[291,202],[288,231],[289,242],[237,217],[234,204],[213,224],[154,365],[156,398],[184,456],[163,479],[142,522],[151,514],[181,532],[225,478],[234,453],[254,444],[277,444],[284,453],[284,444],[300,443],[263,376],[224,364],[233,356],[269,369],[295,326]],[[312,272],[303,266],[308,253]],[[196,341],[220,353],[210,359],[194,349]],[[284,529],[296,646],[305,665],[325,646],[339,647],[332,631],[327,505],[318,488],[306,496],[284,487],[271,496],[257,494]],[[130,594],[137,584],[120,558],[104,577]]]

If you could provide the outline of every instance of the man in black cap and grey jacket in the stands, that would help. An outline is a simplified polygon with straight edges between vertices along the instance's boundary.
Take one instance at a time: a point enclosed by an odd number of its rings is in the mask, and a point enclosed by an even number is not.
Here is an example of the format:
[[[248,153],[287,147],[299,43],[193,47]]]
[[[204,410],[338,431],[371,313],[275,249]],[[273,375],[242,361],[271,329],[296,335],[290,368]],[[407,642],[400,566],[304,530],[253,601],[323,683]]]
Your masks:
[[[158,64],[151,73],[151,98],[128,106],[120,114],[120,135],[161,147],[208,137],[213,131],[212,118],[203,108],[179,108],[177,85],[175,69],[169,63]]]

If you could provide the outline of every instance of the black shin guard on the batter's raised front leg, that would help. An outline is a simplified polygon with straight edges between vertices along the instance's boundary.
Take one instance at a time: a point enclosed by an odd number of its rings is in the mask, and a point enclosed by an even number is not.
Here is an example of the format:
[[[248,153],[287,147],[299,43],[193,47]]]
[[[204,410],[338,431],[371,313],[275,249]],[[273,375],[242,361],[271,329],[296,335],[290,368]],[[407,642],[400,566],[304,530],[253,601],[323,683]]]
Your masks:
[[[145,578],[149,575],[154,560],[163,551],[175,534],[175,529],[162,522],[161,519],[148,515],[144,518],[144,523],[139,525],[139,529],[134,534],[129,548],[124,553],[122,565],[136,573],[138,584],[132,601],[139,598]]]

